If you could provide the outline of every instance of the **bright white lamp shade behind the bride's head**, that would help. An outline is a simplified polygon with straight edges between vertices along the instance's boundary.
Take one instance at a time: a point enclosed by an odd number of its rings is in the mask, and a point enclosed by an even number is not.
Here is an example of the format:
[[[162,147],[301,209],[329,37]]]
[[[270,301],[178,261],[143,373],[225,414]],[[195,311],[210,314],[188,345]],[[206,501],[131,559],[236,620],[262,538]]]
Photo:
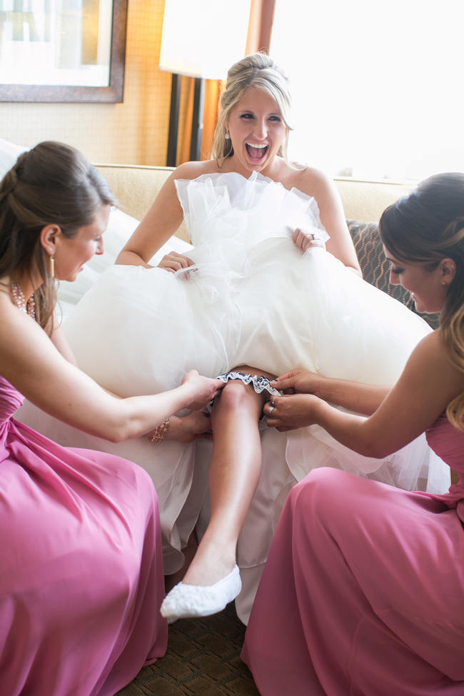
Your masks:
[[[245,55],[251,0],[166,0],[159,69],[226,79]]]

